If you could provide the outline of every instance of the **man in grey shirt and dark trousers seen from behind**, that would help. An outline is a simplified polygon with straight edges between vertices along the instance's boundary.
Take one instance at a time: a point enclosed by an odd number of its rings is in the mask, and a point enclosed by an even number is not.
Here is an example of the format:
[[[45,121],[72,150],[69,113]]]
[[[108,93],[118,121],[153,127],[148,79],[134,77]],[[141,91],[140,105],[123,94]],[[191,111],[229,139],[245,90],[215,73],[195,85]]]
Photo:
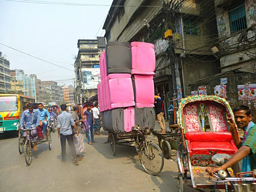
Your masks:
[[[73,140],[73,132],[72,127],[75,128],[76,134],[78,130],[76,128],[76,123],[74,122],[73,116],[71,113],[67,113],[67,105],[61,105],[62,113],[58,116],[57,119],[57,128],[58,128],[58,138],[61,138],[61,156],[62,161],[66,161],[66,140],[68,145],[70,146],[70,151],[73,157],[73,161],[75,165],[78,165],[77,157],[76,157],[76,148]]]

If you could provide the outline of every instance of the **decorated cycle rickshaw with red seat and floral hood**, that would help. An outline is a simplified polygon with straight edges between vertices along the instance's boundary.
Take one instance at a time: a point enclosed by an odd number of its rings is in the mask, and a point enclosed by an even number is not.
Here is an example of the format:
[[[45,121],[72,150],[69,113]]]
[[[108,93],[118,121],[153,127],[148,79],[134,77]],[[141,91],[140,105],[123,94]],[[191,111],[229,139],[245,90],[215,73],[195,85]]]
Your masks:
[[[232,189],[230,183],[225,187],[223,182],[210,180],[205,171],[207,167],[221,166],[212,160],[213,155],[233,155],[238,151],[228,128],[228,117],[235,122],[233,111],[224,98],[192,96],[180,102],[177,120],[182,142],[176,151],[180,192],[183,192],[183,181],[198,191]],[[228,172],[234,175],[231,168]]]

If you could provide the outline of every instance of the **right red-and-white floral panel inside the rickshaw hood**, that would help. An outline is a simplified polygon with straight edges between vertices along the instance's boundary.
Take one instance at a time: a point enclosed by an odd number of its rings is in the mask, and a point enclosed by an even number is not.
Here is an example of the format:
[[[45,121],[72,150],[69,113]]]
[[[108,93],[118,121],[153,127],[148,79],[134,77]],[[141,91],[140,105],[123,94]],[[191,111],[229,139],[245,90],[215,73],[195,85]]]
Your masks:
[[[213,131],[228,131],[224,110],[216,105],[208,105]]]

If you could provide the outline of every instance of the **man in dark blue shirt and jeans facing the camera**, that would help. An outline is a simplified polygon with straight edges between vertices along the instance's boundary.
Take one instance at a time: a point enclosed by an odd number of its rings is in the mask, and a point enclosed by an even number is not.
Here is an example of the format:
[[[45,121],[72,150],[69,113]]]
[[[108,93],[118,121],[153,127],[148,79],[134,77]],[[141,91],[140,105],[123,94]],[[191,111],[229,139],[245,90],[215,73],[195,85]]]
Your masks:
[[[89,124],[89,130],[86,131],[88,144],[92,145],[92,143],[97,143],[96,141],[94,141],[93,125],[95,124],[95,122],[93,118],[93,111],[91,110],[90,104],[87,105],[87,110],[84,111],[84,119]]]

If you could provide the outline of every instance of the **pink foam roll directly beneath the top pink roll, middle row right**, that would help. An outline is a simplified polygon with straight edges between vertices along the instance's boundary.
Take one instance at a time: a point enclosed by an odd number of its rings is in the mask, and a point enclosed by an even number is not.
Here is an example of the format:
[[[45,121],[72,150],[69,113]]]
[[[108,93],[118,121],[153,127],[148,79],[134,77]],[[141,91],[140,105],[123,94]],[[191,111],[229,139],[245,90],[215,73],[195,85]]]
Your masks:
[[[153,76],[134,75],[134,92],[136,103],[145,104],[143,107],[154,106]]]

